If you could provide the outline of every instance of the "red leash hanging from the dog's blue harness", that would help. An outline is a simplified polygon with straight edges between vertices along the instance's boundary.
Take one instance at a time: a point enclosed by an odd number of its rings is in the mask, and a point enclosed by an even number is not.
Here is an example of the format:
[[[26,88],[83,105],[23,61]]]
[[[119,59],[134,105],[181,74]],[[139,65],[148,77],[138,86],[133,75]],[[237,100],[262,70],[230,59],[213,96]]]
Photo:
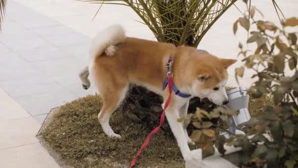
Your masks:
[[[139,152],[137,153],[137,155],[136,155],[136,156],[133,158],[133,160],[131,161],[131,165],[130,165],[129,168],[132,168],[132,167],[136,164],[137,159],[138,159],[138,156],[141,154],[141,151],[142,151],[143,149],[145,149],[146,146],[149,144],[149,141],[150,141],[151,136],[152,136],[153,134],[156,134],[156,133],[158,132],[158,130],[160,129],[160,127],[162,126],[162,124],[164,123],[164,120],[165,120],[165,111],[166,111],[166,109],[167,109],[167,107],[169,106],[169,103],[170,103],[170,101],[171,101],[172,84],[173,84],[172,76],[168,75],[168,81],[169,81],[169,83],[168,83],[168,87],[169,87],[169,92],[170,92],[170,94],[169,94],[169,97],[168,97],[168,99],[167,99],[167,101],[166,101],[164,110],[163,110],[163,112],[162,112],[162,114],[161,114],[159,126],[156,127],[152,132],[150,132],[150,134],[149,134],[148,137],[146,138],[144,144],[141,146],[141,149],[139,150]]]

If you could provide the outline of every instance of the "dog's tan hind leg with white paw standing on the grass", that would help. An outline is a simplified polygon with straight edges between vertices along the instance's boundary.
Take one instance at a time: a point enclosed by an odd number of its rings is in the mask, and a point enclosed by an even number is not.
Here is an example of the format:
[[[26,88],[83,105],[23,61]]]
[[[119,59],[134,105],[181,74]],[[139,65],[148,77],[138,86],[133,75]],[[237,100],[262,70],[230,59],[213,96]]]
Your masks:
[[[109,88],[100,89],[103,106],[99,112],[98,119],[101,124],[103,132],[111,138],[121,138],[120,135],[114,133],[109,124],[112,113],[117,109],[119,104],[123,101],[126,92],[128,91],[128,84],[110,85]]]

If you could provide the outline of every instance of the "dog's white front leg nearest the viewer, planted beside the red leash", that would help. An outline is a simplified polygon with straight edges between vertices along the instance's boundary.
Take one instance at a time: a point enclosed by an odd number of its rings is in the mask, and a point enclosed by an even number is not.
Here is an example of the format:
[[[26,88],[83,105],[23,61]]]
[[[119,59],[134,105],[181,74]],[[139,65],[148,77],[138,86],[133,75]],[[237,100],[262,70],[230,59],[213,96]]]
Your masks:
[[[164,104],[162,105],[162,107],[164,107]],[[187,143],[187,139],[184,135],[184,129],[181,123],[177,121],[177,119],[179,118],[178,109],[176,109],[175,107],[169,106],[168,109],[166,110],[166,117],[170,124],[171,130],[177,140],[182,156],[184,160],[186,160],[187,157],[189,157],[190,149]]]

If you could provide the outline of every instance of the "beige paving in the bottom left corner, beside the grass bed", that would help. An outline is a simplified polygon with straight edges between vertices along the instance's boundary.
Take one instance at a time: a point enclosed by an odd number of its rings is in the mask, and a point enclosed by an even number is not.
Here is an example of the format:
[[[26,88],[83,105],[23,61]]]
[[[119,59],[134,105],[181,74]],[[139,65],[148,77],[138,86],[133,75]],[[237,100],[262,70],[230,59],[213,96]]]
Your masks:
[[[40,124],[0,88],[0,168],[59,168],[36,139]]]

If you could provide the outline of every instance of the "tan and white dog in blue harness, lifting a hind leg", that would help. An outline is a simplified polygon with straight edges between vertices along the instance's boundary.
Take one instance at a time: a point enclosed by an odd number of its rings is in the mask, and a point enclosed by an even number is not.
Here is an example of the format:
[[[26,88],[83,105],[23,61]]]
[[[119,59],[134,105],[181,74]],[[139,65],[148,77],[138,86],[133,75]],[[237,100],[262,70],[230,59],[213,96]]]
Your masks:
[[[121,138],[109,125],[109,119],[123,101],[128,85],[139,84],[163,96],[169,95],[163,89],[167,77],[166,63],[173,56],[172,72],[175,86],[180,92],[191,95],[180,97],[172,94],[166,117],[180,147],[187,159],[191,143],[185,129],[177,118],[185,117],[192,97],[208,98],[217,105],[228,103],[225,92],[227,68],[236,62],[222,59],[194,47],[148,41],[126,37],[124,29],[114,25],[104,29],[94,38],[90,50],[90,64],[79,74],[85,89],[90,86],[89,73],[103,101],[98,119],[104,133],[109,137]],[[164,107],[164,103],[162,104]]]

